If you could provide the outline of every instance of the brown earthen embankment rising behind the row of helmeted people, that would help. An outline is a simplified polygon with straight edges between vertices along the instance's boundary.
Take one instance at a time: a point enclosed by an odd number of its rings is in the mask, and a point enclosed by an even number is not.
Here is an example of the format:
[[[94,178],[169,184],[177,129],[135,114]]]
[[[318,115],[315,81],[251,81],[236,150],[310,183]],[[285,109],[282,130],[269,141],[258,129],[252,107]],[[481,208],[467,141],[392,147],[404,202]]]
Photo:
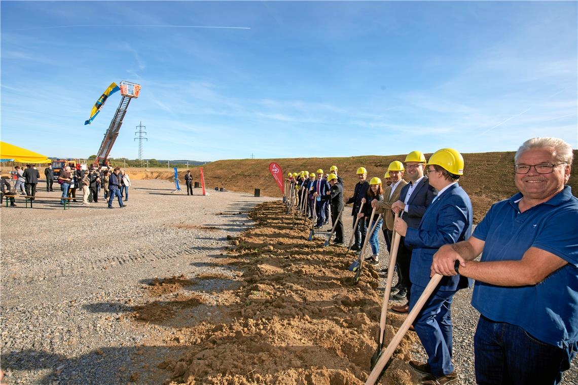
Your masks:
[[[429,155],[431,154],[425,154],[425,157],[429,158]],[[477,222],[483,218],[493,203],[517,192],[513,180],[514,152],[484,152],[462,155],[464,155],[465,170],[464,175],[460,178],[460,185],[464,187],[472,199],[474,217]],[[572,186],[574,195],[577,195],[578,151],[574,151],[574,158],[569,184]],[[358,167],[365,167],[368,170],[369,178],[383,178],[387,166],[393,160],[404,159],[405,155],[366,155],[350,158],[229,159],[217,160],[202,167],[205,174],[205,185],[209,190],[223,187],[231,191],[252,194],[258,188],[261,189],[261,195],[281,197],[282,194],[269,173],[269,163],[278,163],[285,175],[288,171],[298,173],[301,170],[314,172],[317,169],[323,169],[328,172],[329,167],[335,165],[339,168],[340,177],[343,178],[346,196],[351,196],[355,183],[357,183],[355,171]],[[199,181],[200,167],[190,167],[190,170],[194,180]],[[184,171],[179,170],[179,175],[184,175]],[[151,173],[145,177],[172,180],[173,173],[164,171],[158,172],[157,175]],[[183,180],[183,177],[181,176],[180,179]]]

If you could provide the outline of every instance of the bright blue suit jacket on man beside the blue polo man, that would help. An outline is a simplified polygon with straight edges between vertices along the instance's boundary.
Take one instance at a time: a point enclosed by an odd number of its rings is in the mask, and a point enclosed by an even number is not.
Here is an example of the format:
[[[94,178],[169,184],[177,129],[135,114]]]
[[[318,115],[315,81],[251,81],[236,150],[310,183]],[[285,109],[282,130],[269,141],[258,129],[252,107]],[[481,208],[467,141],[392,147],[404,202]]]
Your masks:
[[[445,244],[464,241],[472,234],[472,202],[455,184],[429,205],[420,226],[407,229],[405,242],[413,247],[409,279],[414,285],[427,286],[433,255]],[[460,275],[444,276],[439,290],[457,290],[468,286]]]

